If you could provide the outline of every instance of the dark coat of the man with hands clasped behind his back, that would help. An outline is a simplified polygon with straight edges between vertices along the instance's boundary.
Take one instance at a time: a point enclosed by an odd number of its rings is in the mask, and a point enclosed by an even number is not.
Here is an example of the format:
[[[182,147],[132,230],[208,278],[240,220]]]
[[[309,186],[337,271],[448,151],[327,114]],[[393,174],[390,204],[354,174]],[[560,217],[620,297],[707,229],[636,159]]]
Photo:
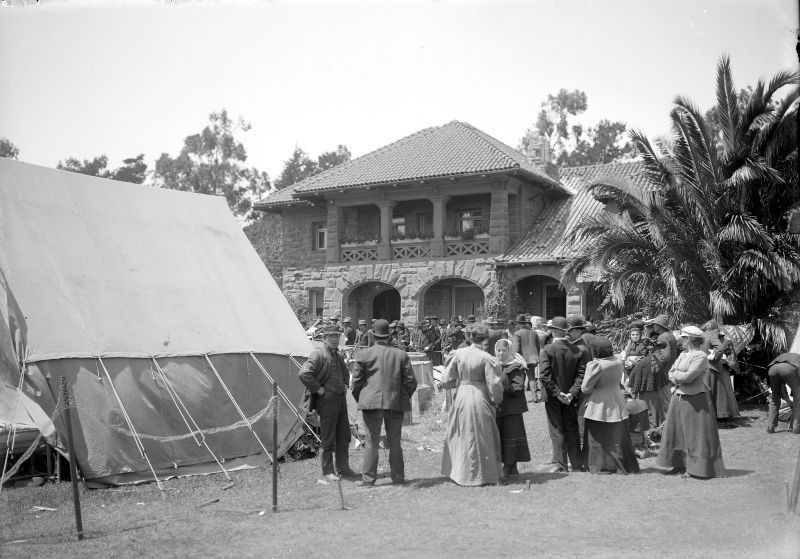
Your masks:
[[[553,340],[539,353],[539,379],[544,387],[545,402],[558,402],[561,392],[572,394],[573,406],[578,406],[581,383],[589,361],[588,351],[565,338]]]

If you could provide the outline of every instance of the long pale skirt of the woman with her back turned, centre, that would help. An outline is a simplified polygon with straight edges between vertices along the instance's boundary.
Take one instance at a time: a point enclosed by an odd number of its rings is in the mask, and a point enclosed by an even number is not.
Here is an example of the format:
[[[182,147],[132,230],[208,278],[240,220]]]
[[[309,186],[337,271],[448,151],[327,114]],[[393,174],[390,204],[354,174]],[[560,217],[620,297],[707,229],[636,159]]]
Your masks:
[[[442,475],[459,485],[500,481],[500,431],[485,384],[461,384],[447,419]]]

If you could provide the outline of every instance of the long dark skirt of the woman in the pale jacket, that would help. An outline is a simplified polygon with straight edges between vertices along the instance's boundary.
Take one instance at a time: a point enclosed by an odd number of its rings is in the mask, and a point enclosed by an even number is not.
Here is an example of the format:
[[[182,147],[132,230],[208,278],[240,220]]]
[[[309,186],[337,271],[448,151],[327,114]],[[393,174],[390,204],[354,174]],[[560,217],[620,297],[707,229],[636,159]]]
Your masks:
[[[583,458],[584,464],[593,474],[639,473],[639,461],[633,452],[628,420],[607,423],[586,419]]]

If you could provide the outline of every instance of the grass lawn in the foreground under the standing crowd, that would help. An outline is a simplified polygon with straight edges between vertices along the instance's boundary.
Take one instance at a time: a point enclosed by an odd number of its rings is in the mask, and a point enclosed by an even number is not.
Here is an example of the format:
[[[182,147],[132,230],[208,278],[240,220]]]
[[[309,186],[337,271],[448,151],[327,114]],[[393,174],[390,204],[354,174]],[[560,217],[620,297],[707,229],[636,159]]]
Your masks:
[[[525,414],[533,461],[490,487],[439,474],[445,415],[437,402],[403,430],[405,486],[321,484],[318,460],[282,464],[279,511],[269,468],[112,490],[81,489],[86,539],[74,532],[68,483],[4,489],[2,557],[800,557],[800,515],[788,515],[800,436],[766,434],[766,411],[721,429],[728,476],[707,481],[642,473],[537,470],[551,456],[542,404]],[[381,467],[387,457],[381,451]],[[351,450],[360,471],[362,452]],[[388,474],[387,474],[388,475]],[[530,489],[528,490],[528,482]],[[219,502],[198,505],[219,499]],[[35,511],[34,506],[57,509]]]

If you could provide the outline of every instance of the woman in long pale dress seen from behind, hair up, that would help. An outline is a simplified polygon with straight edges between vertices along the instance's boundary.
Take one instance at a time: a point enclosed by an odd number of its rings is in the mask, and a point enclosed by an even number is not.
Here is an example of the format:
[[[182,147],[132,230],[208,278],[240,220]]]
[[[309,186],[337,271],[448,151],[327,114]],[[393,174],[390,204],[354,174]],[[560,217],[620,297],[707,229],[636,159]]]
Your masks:
[[[442,375],[443,388],[456,388],[447,419],[442,475],[459,485],[500,481],[500,432],[495,406],[503,399],[499,361],[484,351],[488,332],[471,331],[472,345],[457,349]]]

